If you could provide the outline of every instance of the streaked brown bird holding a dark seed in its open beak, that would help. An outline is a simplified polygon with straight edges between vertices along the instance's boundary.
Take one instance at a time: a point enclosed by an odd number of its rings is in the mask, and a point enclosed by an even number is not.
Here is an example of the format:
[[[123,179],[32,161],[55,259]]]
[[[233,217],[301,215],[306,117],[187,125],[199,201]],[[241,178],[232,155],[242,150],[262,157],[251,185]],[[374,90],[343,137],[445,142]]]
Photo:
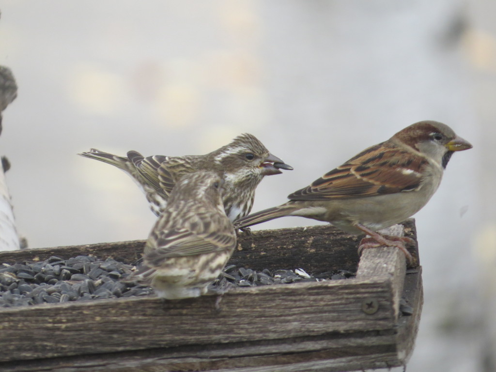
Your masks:
[[[137,151],[129,151],[124,157],[97,149],[78,155],[123,170],[145,193],[150,209],[157,216],[167,207],[171,190],[183,175],[198,170],[222,172],[224,208],[231,221],[251,211],[255,188],[264,176],[280,174],[280,169],[293,169],[249,133],[241,134],[231,143],[205,155],[153,155],[145,158]]]

